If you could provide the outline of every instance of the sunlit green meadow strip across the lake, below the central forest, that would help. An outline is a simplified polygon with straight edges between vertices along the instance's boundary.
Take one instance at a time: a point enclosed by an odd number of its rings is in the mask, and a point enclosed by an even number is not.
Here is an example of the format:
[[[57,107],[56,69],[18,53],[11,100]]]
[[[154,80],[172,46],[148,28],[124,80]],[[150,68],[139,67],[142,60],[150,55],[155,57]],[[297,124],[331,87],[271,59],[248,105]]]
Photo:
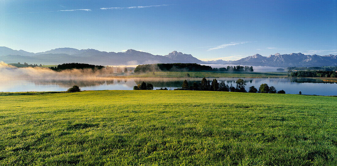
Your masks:
[[[287,73],[282,72],[155,72],[153,75],[152,72],[149,73],[132,73],[126,77],[162,77],[162,78],[174,78],[174,77],[185,77],[186,73],[190,77],[286,77]]]

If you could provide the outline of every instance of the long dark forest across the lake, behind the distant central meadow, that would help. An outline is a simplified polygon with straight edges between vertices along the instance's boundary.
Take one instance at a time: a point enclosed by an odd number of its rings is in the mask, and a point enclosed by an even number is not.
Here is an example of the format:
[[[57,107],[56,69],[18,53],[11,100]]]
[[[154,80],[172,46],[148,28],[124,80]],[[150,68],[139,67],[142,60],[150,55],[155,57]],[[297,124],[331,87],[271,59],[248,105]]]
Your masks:
[[[155,64],[143,64],[138,65],[135,69],[135,73],[144,72],[186,72],[186,71],[231,71],[231,72],[253,72],[253,66],[227,66],[221,68],[212,68],[211,66],[201,65],[197,63],[155,63]]]

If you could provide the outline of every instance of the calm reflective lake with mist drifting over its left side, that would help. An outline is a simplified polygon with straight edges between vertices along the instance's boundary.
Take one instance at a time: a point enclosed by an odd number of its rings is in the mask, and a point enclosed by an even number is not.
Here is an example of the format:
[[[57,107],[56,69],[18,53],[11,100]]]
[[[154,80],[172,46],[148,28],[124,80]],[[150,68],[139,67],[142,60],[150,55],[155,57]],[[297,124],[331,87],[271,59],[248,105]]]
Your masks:
[[[132,90],[133,86],[142,81],[152,83],[154,89],[167,87],[175,89],[181,87],[185,78],[181,79],[81,79],[81,80],[44,80],[44,79],[21,79],[21,80],[0,80],[0,91],[2,92],[22,92],[22,91],[65,91],[73,85],[78,85],[82,90]],[[210,81],[213,78],[208,78]],[[225,81],[229,86],[235,86],[238,78],[216,78],[218,81]],[[336,83],[322,83],[315,79],[286,79],[286,78],[241,78],[247,82],[248,87],[254,85],[257,89],[261,84],[274,86],[277,90],[285,90],[286,93],[316,95],[337,95]],[[201,78],[188,79],[189,84],[200,82]]]

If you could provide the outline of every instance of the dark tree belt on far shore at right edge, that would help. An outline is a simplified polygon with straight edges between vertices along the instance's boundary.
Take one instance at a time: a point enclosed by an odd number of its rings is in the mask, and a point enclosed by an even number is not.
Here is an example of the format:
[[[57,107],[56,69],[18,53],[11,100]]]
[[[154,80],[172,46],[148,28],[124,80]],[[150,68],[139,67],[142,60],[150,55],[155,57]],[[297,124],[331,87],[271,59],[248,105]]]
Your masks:
[[[291,72],[290,77],[326,77],[337,78],[337,72],[335,71],[297,71]]]

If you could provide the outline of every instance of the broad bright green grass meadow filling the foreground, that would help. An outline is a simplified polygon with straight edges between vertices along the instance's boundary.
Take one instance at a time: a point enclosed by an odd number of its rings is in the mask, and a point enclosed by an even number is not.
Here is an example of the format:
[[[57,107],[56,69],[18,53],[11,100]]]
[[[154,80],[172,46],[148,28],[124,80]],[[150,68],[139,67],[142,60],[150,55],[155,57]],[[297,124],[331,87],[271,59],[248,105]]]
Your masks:
[[[0,95],[2,165],[337,165],[337,97]]]

